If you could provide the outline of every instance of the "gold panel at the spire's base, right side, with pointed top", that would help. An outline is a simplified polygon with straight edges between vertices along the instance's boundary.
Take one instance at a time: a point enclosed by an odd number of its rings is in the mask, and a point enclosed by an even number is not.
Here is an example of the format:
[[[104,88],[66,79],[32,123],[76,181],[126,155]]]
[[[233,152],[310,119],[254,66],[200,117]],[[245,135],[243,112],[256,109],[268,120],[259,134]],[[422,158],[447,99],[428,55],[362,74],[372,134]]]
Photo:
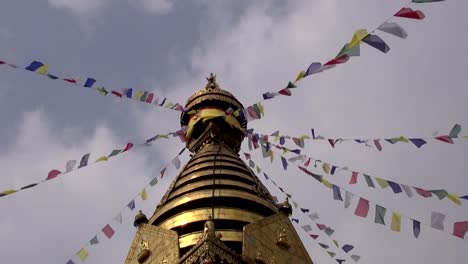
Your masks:
[[[288,216],[284,213],[266,217],[244,226],[242,253],[251,259],[262,256],[265,263],[313,264]]]

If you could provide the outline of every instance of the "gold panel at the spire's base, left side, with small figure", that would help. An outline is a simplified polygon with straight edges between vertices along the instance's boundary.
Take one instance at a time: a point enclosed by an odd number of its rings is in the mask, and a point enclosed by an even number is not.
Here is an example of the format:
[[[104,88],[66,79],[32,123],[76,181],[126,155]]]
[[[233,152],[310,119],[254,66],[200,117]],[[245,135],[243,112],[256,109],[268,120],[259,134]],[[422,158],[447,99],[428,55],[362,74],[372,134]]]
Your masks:
[[[125,264],[175,263],[178,259],[177,232],[143,224],[137,230]]]

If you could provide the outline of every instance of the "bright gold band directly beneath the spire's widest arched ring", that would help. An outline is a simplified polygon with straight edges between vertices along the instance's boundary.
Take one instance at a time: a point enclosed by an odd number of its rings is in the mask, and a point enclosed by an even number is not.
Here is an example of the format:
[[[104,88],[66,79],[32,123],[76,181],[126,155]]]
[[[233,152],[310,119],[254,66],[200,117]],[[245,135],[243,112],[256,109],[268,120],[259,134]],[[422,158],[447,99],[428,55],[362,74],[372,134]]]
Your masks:
[[[174,227],[183,226],[187,223],[204,221],[208,218],[209,215],[211,215],[211,208],[194,209],[180,213],[165,220],[164,222],[159,224],[159,227],[165,229],[172,229]],[[244,211],[241,209],[215,208],[214,210],[214,219],[239,220],[253,223],[262,218],[263,216],[261,215],[249,211]]]

